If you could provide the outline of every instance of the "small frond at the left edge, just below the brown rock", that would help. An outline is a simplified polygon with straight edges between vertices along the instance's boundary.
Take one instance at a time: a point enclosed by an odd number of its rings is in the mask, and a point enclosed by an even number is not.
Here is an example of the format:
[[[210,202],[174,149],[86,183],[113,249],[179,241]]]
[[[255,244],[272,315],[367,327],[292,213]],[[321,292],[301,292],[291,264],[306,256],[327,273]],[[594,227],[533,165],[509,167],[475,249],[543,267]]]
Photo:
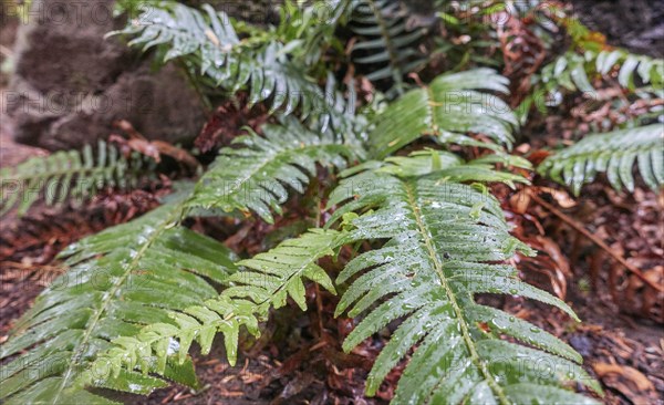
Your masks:
[[[0,215],[17,206],[19,215],[25,214],[40,197],[48,205],[54,205],[69,198],[79,201],[91,198],[106,187],[136,187],[154,168],[154,160],[138,154],[125,158],[103,141],[98,142],[96,156],[92,147],[85,145],[81,152],[34,157],[15,167],[0,169]]]

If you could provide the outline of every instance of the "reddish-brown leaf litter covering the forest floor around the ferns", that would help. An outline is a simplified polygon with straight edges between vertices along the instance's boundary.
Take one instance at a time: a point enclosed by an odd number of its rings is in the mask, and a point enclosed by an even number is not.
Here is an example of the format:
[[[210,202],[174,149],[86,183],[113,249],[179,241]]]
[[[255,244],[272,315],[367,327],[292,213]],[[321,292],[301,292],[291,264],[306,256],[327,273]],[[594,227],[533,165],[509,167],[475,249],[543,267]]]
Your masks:
[[[579,0],[574,3],[585,10],[593,2]],[[643,27],[642,22],[640,33],[630,33],[621,31],[625,24],[621,24],[618,15],[627,12],[621,9],[627,7],[625,4],[639,7],[642,2],[618,3],[620,7],[615,12],[602,14],[609,15],[604,20],[595,19],[599,27],[593,28],[609,32],[610,40],[613,35],[618,41],[627,38],[632,42],[646,43],[653,37],[655,44],[662,43],[664,34],[657,34],[657,30],[664,30],[664,7],[650,8],[650,14],[641,14],[651,15],[655,10],[655,15],[649,17],[651,22],[645,22],[650,25]],[[639,48],[636,42],[632,43],[635,49]],[[652,45],[653,42],[647,43]],[[658,50],[661,52],[662,48]],[[560,117],[549,120],[542,125],[560,126],[552,123]],[[1,121],[1,166],[45,153],[13,143],[8,120]],[[547,200],[566,214],[568,220],[537,201],[530,201],[525,215],[515,214],[512,196],[506,194],[502,199],[508,219],[519,232],[540,243],[538,250],[544,251],[547,259],[525,263],[522,276],[553,293],[564,293],[566,301],[571,303],[583,323],[577,324],[561,312],[530,301],[511,297],[481,299],[543,326],[579,351],[584,357],[584,367],[602,383],[605,403],[664,404],[663,303],[653,302],[657,300],[656,294],[653,295],[637,278],[615,264],[606,252],[570,225],[571,221],[589,229],[630,264],[663,283],[664,196],[644,187],[639,187],[632,196],[624,196],[611,190],[605,181],[599,181],[587,187],[583,197],[574,202],[566,195]],[[53,260],[60,249],[85,235],[146,211],[154,207],[156,197],[158,193],[137,190],[101,196],[83,209],[35,207],[22,218],[2,218],[0,343],[7,340],[11,324],[34,298],[63,272]],[[546,230],[548,237],[540,235],[538,229]],[[260,242],[242,241],[246,248],[253,245],[249,249],[257,249]],[[334,297],[313,288],[308,297],[311,302],[307,313],[289,307],[273,315],[273,322],[259,341],[246,339],[236,367],[228,366],[222,360],[221,344],[215,344],[216,350],[208,356],[195,354],[203,385],[198,393],[174,386],[148,398],[127,399],[151,405],[387,403],[398,380],[398,368],[388,375],[375,398],[363,396],[366,374],[386,336],[377,335],[351,354],[343,354],[341,342],[352,329],[352,321],[333,318]]]

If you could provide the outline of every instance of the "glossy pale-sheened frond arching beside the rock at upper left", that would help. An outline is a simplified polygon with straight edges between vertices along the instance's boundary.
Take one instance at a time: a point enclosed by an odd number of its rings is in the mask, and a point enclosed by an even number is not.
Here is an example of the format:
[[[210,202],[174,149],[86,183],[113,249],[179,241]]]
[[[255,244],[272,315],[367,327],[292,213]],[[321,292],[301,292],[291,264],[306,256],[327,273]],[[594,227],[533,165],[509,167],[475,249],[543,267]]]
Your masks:
[[[203,6],[205,13],[174,1],[160,1],[145,10],[124,30],[111,34],[135,37],[129,45],[166,46],[164,61],[184,59],[212,80],[236,92],[249,89],[249,103],[271,102],[271,111],[291,114],[298,106],[307,117],[312,111],[324,113],[325,94],[300,64],[288,59],[297,41],[281,43],[261,34],[240,40],[224,12]]]

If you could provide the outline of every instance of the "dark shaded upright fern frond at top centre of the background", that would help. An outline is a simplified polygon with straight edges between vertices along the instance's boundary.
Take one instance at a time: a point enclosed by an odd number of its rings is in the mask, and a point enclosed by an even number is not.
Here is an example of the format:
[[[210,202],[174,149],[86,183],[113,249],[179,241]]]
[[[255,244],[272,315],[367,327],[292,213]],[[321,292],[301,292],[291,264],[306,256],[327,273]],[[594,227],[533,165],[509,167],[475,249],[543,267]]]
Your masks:
[[[391,92],[404,92],[403,77],[424,63],[424,55],[414,44],[424,37],[423,30],[409,30],[407,13],[394,0],[355,0],[350,28],[361,37],[353,45],[357,64],[383,65],[366,75],[370,81],[392,79]],[[359,56],[357,53],[366,53]],[[388,92],[388,93],[391,93]]]

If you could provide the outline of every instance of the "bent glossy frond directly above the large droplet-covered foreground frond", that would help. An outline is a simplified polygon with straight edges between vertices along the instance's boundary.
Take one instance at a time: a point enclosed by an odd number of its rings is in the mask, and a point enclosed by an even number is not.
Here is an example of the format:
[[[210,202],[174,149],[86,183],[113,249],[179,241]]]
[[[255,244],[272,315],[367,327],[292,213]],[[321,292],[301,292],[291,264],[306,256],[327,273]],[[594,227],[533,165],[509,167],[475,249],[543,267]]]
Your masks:
[[[500,148],[475,141],[468,133],[484,134],[511,147],[516,115],[497,96],[480,92],[507,94],[507,79],[490,69],[440,75],[429,86],[404,94],[375,118],[370,150],[383,158],[423,135],[445,144]]]

